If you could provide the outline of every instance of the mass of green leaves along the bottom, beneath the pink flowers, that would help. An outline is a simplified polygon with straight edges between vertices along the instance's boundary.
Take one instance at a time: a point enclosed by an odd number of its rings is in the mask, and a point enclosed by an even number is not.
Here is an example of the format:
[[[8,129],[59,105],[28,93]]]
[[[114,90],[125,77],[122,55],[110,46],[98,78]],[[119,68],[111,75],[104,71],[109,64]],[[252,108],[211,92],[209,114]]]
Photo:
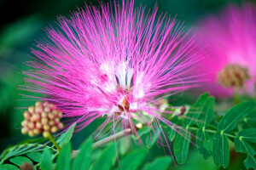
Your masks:
[[[161,124],[155,129],[142,127],[132,139],[142,139],[149,152],[159,139],[165,135],[168,143],[173,143],[171,150],[178,164],[187,161],[189,148],[195,144],[198,153],[205,160],[213,158],[218,167],[230,166],[230,150],[246,154],[244,166],[256,168],[254,158],[256,127],[248,125],[248,119],[255,114],[256,104],[247,100],[234,105],[220,116],[214,110],[215,99],[209,94],[202,94],[184,115],[172,114],[168,119],[172,127]],[[0,156],[1,169],[18,169],[23,163],[30,163],[36,169],[83,170],[83,169],[167,169],[172,165],[171,156],[148,159],[148,150],[131,150],[131,138],[124,137],[116,142],[96,148],[92,139],[86,139],[78,151],[72,151],[70,140],[75,124],[57,138],[61,150],[54,145],[44,144],[40,140],[27,140],[10,146]],[[179,127],[179,128],[178,128]],[[233,143],[233,144],[232,144]]]

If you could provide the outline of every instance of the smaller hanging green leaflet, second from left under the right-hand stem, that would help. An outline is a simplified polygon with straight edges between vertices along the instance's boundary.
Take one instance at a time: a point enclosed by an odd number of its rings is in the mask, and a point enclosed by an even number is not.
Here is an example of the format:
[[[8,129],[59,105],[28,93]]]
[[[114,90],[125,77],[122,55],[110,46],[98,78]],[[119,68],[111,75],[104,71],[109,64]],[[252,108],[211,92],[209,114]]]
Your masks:
[[[205,159],[208,159],[208,157],[212,155],[212,147],[206,146],[211,146],[212,141],[209,137],[209,134],[203,129],[204,128],[200,128],[196,133],[196,145],[201,155]]]

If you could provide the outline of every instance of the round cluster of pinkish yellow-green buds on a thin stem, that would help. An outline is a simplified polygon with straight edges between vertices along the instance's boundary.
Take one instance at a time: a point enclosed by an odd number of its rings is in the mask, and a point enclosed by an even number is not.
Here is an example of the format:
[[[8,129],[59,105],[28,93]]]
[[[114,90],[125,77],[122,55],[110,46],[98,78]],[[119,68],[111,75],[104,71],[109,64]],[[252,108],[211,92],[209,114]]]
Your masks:
[[[29,107],[23,115],[25,120],[21,122],[21,133],[31,137],[43,133],[44,138],[47,138],[49,133],[56,133],[63,128],[63,124],[60,122],[61,111],[48,102],[38,101],[35,106]]]

